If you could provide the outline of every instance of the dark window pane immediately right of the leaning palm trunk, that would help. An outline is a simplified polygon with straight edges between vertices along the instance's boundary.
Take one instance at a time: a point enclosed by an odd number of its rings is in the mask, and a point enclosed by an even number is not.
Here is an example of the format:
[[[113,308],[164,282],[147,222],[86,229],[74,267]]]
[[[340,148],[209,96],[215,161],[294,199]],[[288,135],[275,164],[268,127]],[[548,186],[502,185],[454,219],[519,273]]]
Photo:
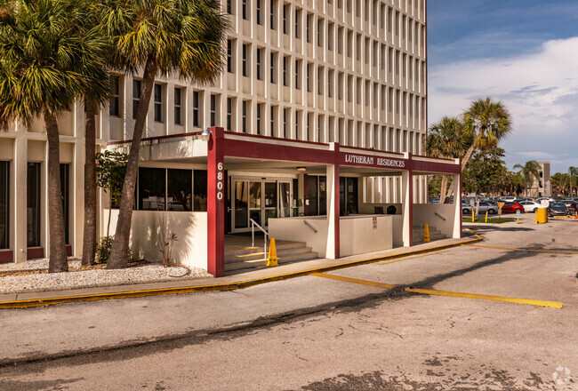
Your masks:
[[[165,183],[164,168],[139,168],[140,211],[165,211]]]

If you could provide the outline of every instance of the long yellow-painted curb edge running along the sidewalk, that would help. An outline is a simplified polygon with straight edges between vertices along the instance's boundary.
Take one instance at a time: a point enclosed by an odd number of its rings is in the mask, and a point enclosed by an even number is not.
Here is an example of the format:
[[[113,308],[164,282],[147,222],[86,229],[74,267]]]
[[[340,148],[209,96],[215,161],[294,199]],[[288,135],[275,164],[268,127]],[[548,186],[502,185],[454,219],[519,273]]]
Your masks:
[[[162,289],[152,289],[144,291],[123,291],[123,292],[111,292],[111,293],[98,293],[93,295],[78,295],[78,296],[66,296],[60,298],[51,299],[28,299],[28,300],[14,300],[14,301],[2,301],[0,302],[0,309],[3,308],[26,308],[26,307],[44,307],[51,306],[53,304],[70,303],[76,301],[96,301],[96,300],[108,300],[108,299],[128,299],[128,298],[139,298],[145,296],[158,296],[158,295],[170,295],[178,293],[194,293],[198,291],[232,291],[237,289],[244,289],[254,285],[259,285],[261,283],[273,283],[276,281],[287,280],[290,278],[301,277],[303,275],[311,275],[313,273],[325,272],[337,270],[345,267],[354,267],[359,265],[365,265],[369,263],[379,262],[386,259],[397,259],[405,258],[412,255],[422,254],[426,252],[433,252],[438,250],[445,250],[453,247],[459,247],[464,244],[478,243],[482,239],[481,237],[476,239],[471,239],[467,242],[462,243],[449,243],[443,244],[435,247],[429,247],[427,249],[421,249],[416,251],[404,252],[401,254],[392,254],[386,257],[371,258],[371,259],[360,259],[351,262],[345,262],[337,265],[326,266],[326,267],[316,267],[307,270],[301,270],[300,272],[286,273],[283,275],[271,275],[269,277],[256,278],[253,280],[239,281],[237,283],[215,283],[209,285],[197,285],[197,286],[186,286],[186,287],[175,287],[175,288],[162,288]]]

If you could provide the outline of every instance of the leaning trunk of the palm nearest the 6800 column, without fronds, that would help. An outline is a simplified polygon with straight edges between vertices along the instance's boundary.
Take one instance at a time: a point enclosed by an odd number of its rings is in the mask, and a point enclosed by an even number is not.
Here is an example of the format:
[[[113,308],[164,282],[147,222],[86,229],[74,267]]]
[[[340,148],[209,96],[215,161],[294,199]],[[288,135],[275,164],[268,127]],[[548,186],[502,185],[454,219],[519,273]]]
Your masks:
[[[126,164],[126,175],[124,176],[123,195],[118,210],[116,220],[115,240],[112,243],[110,257],[108,259],[108,269],[123,268],[128,263],[128,244],[131,235],[132,205],[134,204],[134,188],[136,186],[136,175],[139,169],[139,152],[142,132],[147,122],[149,113],[150,97],[155,85],[157,75],[157,60],[154,55],[149,56],[142,76],[142,91],[140,92],[139,106],[136,110],[134,121],[134,131],[132,132],[131,150]]]

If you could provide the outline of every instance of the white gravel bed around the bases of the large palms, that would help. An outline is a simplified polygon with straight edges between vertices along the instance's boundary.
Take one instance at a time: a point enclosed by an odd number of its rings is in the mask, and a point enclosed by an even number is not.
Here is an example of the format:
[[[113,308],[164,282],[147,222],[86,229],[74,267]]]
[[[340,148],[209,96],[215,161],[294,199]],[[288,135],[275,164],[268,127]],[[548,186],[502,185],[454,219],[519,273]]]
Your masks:
[[[68,267],[80,267],[79,259],[68,259]],[[3,271],[47,269],[48,259],[36,259],[17,264],[0,265]],[[190,273],[189,272],[190,269]],[[0,293],[54,291],[94,288],[99,286],[131,283],[158,283],[165,281],[213,278],[199,267],[164,267],[160,263],[147,263],[117,270],[93,269],[67,273],[42,273],[31,275],[6,275],[0,277]]]

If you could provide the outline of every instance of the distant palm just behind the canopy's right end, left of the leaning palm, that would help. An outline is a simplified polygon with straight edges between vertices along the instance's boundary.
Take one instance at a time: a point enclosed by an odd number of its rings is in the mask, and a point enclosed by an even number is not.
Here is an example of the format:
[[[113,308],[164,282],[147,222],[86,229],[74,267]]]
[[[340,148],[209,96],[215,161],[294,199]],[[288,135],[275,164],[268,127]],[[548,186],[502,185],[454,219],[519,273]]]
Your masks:
[[[437,124],[429,127],[425,150],[428,156],[462,157],[470,147],[473,138],[469,132],[464,132],[462,120],[457,116],[444,116]],[[440,202],[446,200],[447,175],[442,175],[439,193]]]

